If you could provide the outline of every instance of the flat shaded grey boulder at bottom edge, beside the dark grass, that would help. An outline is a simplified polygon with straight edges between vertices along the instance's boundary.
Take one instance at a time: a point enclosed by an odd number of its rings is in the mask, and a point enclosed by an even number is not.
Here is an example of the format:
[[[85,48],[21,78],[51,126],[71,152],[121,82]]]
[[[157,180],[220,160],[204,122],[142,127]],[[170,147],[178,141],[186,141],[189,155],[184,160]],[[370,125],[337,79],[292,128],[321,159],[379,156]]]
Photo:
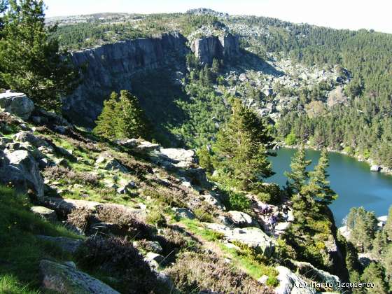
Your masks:
[[[70,262],[62,265],[50,260],[41,260],[39,267],[43,276],[42,286],[47,290],[64,294],[119,294],[106,283],[80,272]]]

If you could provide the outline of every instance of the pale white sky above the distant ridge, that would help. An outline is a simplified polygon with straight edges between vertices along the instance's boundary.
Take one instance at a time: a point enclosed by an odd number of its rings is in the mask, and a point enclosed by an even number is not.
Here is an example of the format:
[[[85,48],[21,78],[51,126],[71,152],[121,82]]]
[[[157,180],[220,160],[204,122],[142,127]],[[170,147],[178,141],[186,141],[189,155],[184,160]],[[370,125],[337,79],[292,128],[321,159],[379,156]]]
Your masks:
[[[258,15],[335,29],[392,34],[391,0],[44,0],[46,15],[172,13],[211,8],[230,15]]]

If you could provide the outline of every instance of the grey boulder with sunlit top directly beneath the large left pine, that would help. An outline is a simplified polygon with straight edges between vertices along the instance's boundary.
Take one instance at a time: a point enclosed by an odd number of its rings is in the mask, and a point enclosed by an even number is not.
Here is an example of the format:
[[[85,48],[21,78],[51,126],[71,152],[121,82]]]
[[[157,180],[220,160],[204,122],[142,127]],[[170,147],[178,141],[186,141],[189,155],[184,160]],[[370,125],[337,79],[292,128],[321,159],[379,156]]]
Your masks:
[[[0,94],[0,108],[27,120],[34,111],[34,102],[23,93],[7,91]]]

